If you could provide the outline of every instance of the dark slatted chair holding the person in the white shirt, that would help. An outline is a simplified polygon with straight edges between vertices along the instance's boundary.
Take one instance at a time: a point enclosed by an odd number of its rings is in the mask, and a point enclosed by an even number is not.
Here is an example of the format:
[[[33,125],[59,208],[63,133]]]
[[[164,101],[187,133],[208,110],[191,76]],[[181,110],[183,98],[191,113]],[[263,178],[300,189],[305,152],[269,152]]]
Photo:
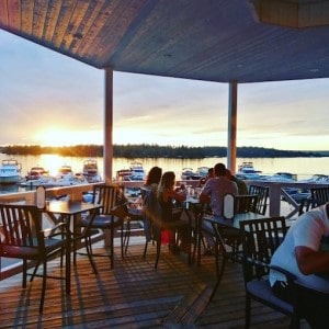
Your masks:
[[[291,317],[291,328],[299,327],[299,316],[295,304],[288,304],[273,293],[268,279],[270,262],[275,249],[282,242],[287,227],[284,217],[272,217],[240,222],[242,237],[242,269],[246,286],[246,322],[250,326],[251,299],[276,309]],[[294,286],[294,275],[283,272],[290,284]]]

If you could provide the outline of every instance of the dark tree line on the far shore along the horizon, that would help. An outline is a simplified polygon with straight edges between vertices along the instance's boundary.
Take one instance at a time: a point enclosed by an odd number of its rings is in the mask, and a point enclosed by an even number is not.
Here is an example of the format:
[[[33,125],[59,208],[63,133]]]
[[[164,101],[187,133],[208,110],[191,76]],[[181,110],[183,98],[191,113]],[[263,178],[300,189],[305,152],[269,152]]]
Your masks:
[[[39,156],[59,155],[63,157],[103,157],[103,145],[76,145],[76,146],[2,146],[0,152],[7,155]],[[263,147],[238,147],[238,158],[296,158],[296,157],[322,157],[326,152],[319,151],[295,151],[279,150]],[[329,154],[327,155],[329,156]],[[159,145],[114,145],[113,157],[115,158],[182,158],[182,159],[203,159],[203,158],[224,158],[227,157],[227,147],[205,146],[159,146]]]

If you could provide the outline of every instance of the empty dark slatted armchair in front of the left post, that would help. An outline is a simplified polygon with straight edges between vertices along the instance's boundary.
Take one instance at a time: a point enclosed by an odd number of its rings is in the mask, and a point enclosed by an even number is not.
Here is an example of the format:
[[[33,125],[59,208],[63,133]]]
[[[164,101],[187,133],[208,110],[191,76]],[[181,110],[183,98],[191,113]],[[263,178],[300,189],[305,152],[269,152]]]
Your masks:
[[[100,203],[103,205],[100,214],[95,215],[92,219],[91,215],[81,218],[79,225],[82,228],[89,227],[92,229],[107,229],[110,230],[110,260],[111,269],[114,266],[114,235],[117,229],[121,230],[121,256],[124,257],[124,220],[128,216],[126,206],[126,200],[124,197],[124,191],[117,185],[98,184],[93,188],[92,203]],[[88,252],[91,256],[109,257],[109,253],[93,253],[91,248],[91,237],[88,237],[89,248]]]

